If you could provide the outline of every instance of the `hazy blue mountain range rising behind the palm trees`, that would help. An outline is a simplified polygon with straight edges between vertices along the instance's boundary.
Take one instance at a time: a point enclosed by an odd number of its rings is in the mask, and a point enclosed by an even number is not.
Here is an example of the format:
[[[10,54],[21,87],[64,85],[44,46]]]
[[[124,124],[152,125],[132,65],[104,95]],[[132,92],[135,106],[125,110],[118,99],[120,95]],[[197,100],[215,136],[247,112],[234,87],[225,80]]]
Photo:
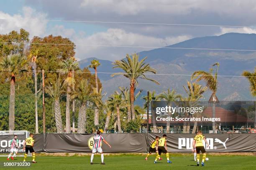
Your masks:
[[[159,81],[160,85],[139,80],[137,89],[143,89],[142,95],[145,95],[147,90],[156,90],[160,93],[168,88],[175,89],[179,94],[184,95],[183,85],[186,86],[187,81],[190,81],[189,75],[195,70],[209,71],[214,63],[219,62],[218,75],[224,76],[218,77],[219,100],[255,100],[251,96],[248,80],[246,77],[239,76],[244,70],[253,72],[256,67],[256,34],[226,33],[219,36],[197,37],[166,47],[138,52],[140,59],[147,57],[146,62],[157,70],[157,74],[170,74],[148,76]],[[202,48],[215,50],[202,50]],[[97,58],[79,61],[80,67],[87,67],[93,59]],[[129,80],[123,75],[111,77],[111,74],[100,73],[122,72],[120,69],[113,69],[113,61],[99,61],[101,65],[97,68],[98,77],[102,82],[103,91],[107,93],[106,96],[118,90],[118,86],[129,86]],[[94,70],[91,71],[94,72]],[[203,82],[202,84],[204,85]],[[210,95],[210,91],[207,91],[204,94],[204,100],[208,100]]]

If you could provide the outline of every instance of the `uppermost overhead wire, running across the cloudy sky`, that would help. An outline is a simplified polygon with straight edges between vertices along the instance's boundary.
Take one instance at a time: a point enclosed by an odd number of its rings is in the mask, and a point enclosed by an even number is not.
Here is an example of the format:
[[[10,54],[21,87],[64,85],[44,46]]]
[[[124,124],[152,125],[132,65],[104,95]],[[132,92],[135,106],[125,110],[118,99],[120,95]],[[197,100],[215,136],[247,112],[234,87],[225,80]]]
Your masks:
[[[73,22],[73,23],[110,23],[110,24],[135,24],[135,25],[169,25],[169,26],[200,26],[200,27],[235,27],[235,28],[256,28],[256,26],[243,25],[207,25],[207,24],[178,24],[178,23],[137,23],[137,22],[114,22],[114,21],[88,21],[88,20],[40,20],[25,18],[0,18],[0,20],[27,20],[27,21],[48,21],[48,22]]]

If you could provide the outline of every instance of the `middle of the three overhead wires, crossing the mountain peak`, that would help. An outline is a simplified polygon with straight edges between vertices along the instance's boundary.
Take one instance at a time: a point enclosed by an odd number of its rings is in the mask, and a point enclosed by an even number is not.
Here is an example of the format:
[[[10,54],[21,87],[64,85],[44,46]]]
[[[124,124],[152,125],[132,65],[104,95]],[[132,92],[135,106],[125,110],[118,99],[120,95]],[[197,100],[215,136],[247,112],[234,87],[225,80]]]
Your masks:
[[[91,47],[131,47],[131,48],[166,48],[166,49],[183,49],[183,50],[222,50],[222,51],[249,51],[244,49],[222,49],[222,48],[186,48],[186,47],[147,47],[147,46],[130,46],[130,45],[90,45],[90,44],[55,44],[55,43],[32,43],[32,42],[0,42],[7,44],[33,44],[33,45],[72,45],[72,46],[91,46]]]

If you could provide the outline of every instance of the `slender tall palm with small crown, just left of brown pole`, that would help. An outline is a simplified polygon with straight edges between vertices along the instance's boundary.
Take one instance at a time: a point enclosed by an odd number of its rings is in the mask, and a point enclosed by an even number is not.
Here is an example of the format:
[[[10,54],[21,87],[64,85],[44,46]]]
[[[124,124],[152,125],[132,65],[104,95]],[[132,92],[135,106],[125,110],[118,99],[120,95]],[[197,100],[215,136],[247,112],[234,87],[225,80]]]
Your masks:
[[[38,103],[38,92],[37,90],[37,65],[36,65],[36,58],[38,55],[38,50],[31,51],[30,58],[31,58],[31,65],[34,73],[34,81],[35,81],[35,117],[36,117],[36,133],[38,133],[38,109],[37,109],[37,103]]]

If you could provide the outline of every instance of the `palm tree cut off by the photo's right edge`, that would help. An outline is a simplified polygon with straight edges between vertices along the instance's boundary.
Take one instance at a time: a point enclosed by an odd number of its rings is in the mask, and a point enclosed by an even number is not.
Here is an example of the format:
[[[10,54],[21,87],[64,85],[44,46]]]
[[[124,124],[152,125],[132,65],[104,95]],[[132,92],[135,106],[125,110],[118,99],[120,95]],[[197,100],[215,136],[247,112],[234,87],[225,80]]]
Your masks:
[[[253,97],[256,97],[256,67],[254,69],[254,72],[248,72],[248,71],[244,71],[242,73],[242,76],[247,77],[248,81],[250,82],[250,86],[251,86],[251,95]],[[256,126],[256,102],[254,101],[254,126]]]

